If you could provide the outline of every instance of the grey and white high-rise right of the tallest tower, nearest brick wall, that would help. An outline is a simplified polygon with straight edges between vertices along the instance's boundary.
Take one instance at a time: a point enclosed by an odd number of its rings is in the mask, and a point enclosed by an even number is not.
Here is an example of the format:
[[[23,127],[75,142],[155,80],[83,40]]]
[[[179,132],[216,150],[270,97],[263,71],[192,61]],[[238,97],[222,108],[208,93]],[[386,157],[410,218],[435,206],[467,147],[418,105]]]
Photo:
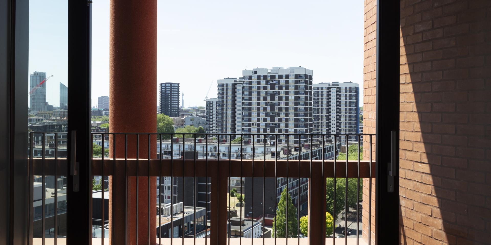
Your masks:
[[[314,84],[314,133],[359,133],[359,87],[354,82],[323,82]],[[333,138],[333,137],[332,137]],[[342,145],[345,136],[339,136]],[[357,141],[356,136],[348,141]]]

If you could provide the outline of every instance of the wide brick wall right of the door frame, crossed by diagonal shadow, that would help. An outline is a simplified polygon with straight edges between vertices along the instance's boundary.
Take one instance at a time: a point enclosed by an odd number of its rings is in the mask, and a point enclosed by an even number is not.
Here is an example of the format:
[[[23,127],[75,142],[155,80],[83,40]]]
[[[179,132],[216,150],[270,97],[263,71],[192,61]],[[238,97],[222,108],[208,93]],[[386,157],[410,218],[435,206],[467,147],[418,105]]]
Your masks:
[[[401,244],[489,245],[491,0],[401,7]]]

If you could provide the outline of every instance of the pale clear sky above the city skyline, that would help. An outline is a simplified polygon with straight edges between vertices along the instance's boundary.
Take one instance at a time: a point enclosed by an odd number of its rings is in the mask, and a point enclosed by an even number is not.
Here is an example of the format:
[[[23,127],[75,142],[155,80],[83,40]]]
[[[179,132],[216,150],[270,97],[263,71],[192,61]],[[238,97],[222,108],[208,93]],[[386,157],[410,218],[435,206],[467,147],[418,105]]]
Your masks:
[[[58,84],[67,84],[67,0],[29,4],[29,73],[54,75],[47,100],[58,106]],[[362,0],[158,0],[157,11],[155,86],[180,82],[185,107],[204,106],[212,83],[208,98],[216,98],[217,79],[256,67],[302,66],[314,83],[362,88]],[[92,3],[92,106],[100,96],[109,96],[109,0]]]

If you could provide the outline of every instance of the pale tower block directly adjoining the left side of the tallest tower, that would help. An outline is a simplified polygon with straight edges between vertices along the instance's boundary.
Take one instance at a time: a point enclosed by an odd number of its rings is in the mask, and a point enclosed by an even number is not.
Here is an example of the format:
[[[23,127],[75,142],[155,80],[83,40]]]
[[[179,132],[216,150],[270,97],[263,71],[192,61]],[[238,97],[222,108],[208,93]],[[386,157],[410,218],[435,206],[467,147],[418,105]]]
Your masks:
[[[238,122],[241,121],[242,117],[242,83],[242,77],[227,77],[217,80],[217,133],[241,133],[242,125]]]

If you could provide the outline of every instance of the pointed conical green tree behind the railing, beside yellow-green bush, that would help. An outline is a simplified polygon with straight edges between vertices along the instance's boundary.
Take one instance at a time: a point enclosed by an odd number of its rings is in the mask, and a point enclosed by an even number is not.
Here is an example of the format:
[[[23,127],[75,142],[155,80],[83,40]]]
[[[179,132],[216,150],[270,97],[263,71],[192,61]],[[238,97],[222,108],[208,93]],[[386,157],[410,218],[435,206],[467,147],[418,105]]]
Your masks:
[[[277,238],[293,238],[297,237],[297,208],[292,203],[292,198],[286,191],[287,188],[283,189],[281,192],[281,197],[278,202],[278,208],[276,210],[276,217],[273,221],[273,234]],[[287,203],[288,200],[288,210]],[[286,234],[286,213],[288,212],[288,234]],[[277,231],[274,230],[274,225],[276,224]]]

